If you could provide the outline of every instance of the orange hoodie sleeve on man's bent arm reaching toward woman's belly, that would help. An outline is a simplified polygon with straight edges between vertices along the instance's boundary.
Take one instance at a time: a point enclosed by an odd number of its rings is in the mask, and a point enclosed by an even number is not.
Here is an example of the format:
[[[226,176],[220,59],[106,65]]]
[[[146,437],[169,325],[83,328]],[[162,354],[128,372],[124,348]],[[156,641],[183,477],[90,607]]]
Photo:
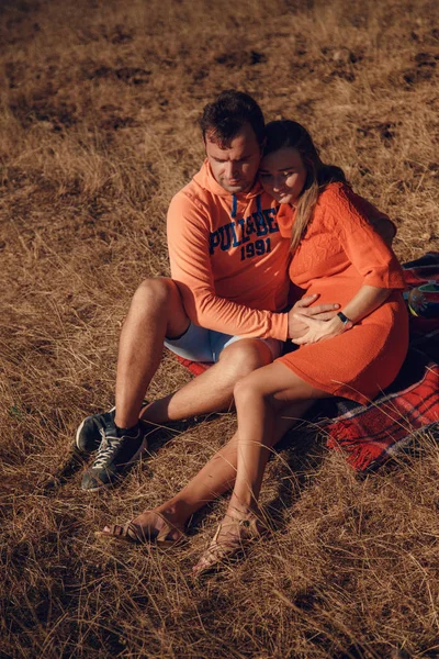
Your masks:
[[[167,219],[171,277],[195,325],[243,337],[288,337],[288,314],[244,306],[215,293],[209,255],[206,209],[183,192],[172,199]]]

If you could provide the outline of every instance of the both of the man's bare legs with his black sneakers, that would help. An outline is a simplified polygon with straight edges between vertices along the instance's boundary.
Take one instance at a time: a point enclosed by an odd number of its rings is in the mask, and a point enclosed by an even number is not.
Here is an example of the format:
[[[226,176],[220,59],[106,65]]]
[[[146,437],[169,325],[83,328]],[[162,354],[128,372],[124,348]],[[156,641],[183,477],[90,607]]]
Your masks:
[[[109,413],[87,417],[77,432],[76,444],[83,453],[95,450],[100,442],[97,457],[83,474],[83,490],[113,484],[142,455],[146,445],[138,426],[142,401],[159,366],[165,337],[184,334],[189,323],[171,279],[150,279],[139,286],[121,334],[115,417]],[[161,424],[227,409],[235,383],[271,360],[271,351],[262,342],[236,342],[203,376],[153,404],[146,420]]]

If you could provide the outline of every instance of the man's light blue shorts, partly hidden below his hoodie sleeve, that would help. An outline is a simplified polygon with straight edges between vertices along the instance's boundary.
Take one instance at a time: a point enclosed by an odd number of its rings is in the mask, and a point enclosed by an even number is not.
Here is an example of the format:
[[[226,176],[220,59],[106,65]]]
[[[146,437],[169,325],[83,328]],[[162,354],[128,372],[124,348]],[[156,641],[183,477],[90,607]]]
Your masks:
[[[233,336],[223,334],[214,330],[205,330],[191,323],[182,336],[178,338],[166,338],[165,345],[179,357],[190,359],[191,361],[215,362],[224,348],[245,338],[244,336]],[[258,338],[264,343],[271,350],[273,359],[281,355],[283,344],[277,338]]]

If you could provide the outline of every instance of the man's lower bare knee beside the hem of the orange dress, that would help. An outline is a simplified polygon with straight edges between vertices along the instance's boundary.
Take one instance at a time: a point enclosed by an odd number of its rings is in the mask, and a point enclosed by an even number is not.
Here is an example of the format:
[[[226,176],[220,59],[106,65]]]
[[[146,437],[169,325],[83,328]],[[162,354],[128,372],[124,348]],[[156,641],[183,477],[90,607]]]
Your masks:
[[[228,368],[236,381],[272,360],[268,345],[256,338],[237,340],[227,346],[219,356],[219,362]]]

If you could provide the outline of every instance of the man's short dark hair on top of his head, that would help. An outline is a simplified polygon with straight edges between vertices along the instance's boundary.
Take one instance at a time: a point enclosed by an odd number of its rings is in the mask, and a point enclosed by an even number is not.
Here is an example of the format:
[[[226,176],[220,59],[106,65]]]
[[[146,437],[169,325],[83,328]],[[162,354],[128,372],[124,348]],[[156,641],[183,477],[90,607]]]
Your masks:
[[[264,139],[262,110],[248,93],[226,89],[213,103],[207,103],[200,120],[203,139],[228,147],[245,124],[250,124],[260,145]]]

